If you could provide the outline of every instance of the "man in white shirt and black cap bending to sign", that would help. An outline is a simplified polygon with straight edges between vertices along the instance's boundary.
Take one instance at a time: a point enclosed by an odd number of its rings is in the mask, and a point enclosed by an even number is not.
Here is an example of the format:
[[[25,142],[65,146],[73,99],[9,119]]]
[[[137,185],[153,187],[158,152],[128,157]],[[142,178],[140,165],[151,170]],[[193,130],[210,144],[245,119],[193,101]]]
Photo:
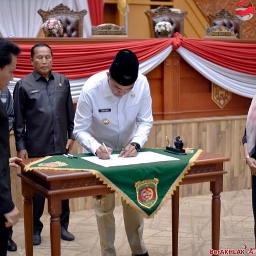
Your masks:
[[[120,151],[119,157],[137,156],[153,123],[150,88],[146,77],[138,74],[138,70],[137,56],[130,50],[121,50],[109,72],[95,74],[84,84],[74,127],[75,138],[86,150],[84,152],[101,159],[108,159],[113,150]],[[148,256],[142,238],[143,218],[123,200],[122,205],[132,255]],[[116,256],[114,208],[114,194],[95,199],[102,256]]]

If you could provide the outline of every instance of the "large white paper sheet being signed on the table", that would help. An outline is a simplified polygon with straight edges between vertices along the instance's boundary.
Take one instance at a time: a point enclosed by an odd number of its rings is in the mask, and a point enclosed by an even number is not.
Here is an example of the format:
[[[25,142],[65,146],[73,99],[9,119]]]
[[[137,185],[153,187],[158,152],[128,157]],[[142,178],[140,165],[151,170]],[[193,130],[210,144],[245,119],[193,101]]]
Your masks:
[[[137,157],[122,158],[122,157],[118,157],[118,155],[119,154],[111,155],[110,156],[111,159],[99,159],[97,156],[81,157],[81,159],[90,161],[95,164],[99,164],[104,167],[179,160],[178,158],[175,158],[175,157],[165,156],[165,155],[158,154],[155,152],[150,152],[150,151],[139,152]]]

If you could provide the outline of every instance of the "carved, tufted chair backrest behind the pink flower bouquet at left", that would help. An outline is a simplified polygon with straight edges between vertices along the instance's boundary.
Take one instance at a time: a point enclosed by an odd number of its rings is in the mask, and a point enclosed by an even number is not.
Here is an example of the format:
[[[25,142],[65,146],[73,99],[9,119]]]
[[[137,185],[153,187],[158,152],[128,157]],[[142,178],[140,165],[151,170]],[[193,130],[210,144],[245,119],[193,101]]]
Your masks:
[[[83,16],[87,14],[87,10],[74,12],[66,5],[57,5],[52,10],[37,11],[44,23],[49,18],[59,19],[63,25],[63,35],[56,35],[56,37],[82,37]],[[46,35],[47,36],[47,35]]]

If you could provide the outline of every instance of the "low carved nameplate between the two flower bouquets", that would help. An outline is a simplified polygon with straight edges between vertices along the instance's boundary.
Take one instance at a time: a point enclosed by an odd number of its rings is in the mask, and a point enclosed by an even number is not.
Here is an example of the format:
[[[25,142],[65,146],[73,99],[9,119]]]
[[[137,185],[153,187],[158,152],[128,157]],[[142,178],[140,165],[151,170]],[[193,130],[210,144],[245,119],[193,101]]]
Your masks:
[[[126,35],[125,28],[112,23],[92,26],[92,35]]]

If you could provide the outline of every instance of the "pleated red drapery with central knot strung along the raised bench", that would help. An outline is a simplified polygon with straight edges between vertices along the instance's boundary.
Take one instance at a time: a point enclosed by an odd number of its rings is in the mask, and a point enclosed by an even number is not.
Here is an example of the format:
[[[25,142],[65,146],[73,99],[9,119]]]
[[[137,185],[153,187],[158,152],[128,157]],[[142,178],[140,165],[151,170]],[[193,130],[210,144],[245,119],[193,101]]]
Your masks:
[[[205,39],[174,38],[148,39],[129,42],[109,42],[95,45],[51,46],[53,71],[69,79],[90,77],[109,69],[116,53],[121,49],[132,50],[143,62],[172,45],[173,50],[183,46],[191,52],[222,67],[246,74],[256,75],[256,44],[210,41]],[[19,45],[22,54],[17,58],[14,76],[21,78],[32,72],[30,45]],[[167,56],[166,56],[167,57]]]

